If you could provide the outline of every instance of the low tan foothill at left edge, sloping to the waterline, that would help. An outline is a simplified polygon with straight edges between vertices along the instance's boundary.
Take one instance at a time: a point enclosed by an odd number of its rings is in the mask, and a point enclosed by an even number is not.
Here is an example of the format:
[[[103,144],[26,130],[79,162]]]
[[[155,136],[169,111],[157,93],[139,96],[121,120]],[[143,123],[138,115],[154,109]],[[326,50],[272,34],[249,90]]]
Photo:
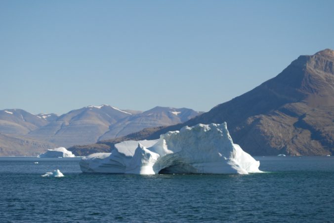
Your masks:
[[[38,156],[47,149],[56,148],[49,142],[27,138],[25,136],[13,136],[0,133],[0,156]]]

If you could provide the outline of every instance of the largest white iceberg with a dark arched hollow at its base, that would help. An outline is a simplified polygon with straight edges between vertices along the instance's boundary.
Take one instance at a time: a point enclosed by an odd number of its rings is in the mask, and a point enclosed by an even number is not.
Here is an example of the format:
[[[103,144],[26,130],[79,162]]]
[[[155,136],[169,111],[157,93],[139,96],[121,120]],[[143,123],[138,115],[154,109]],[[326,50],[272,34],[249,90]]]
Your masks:
[[[85,173],[249,174],[260,162],[234,144],[227,124],[198,124],[169,131],[160,139],[124,141],[111,153],[83,157]]]

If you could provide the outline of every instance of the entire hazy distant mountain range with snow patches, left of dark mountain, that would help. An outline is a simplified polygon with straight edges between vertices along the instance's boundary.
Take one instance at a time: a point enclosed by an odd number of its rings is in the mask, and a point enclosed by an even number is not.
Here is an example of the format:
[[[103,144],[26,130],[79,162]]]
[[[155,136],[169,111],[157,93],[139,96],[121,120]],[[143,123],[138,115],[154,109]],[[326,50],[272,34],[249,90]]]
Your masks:
[[[182,123],[201,113],[171,107],[142,112],[109,105],[86,106],[61,116],[4,109],[0,111],[0,156],[35,156],[57,146],[89,144],[147,127]]]

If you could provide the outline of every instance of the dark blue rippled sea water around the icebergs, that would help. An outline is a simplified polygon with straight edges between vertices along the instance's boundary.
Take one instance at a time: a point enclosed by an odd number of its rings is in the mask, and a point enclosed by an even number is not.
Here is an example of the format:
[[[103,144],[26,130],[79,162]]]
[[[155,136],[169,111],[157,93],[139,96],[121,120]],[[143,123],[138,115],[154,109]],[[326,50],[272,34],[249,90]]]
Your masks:
[[[0,222],[334,221],[333,157],[256,159],[268,173],[83,174],[79,159],[0,158]],[[41,177],[54,169],[65,177]]]

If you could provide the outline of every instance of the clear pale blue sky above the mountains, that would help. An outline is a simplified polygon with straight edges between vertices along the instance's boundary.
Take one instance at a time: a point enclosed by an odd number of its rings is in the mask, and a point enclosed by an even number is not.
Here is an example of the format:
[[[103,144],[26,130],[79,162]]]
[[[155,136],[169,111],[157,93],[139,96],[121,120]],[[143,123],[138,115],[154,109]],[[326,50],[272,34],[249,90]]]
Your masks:
[[[0,109],[208,111],[334,49],[333,0],[1,0]]]

